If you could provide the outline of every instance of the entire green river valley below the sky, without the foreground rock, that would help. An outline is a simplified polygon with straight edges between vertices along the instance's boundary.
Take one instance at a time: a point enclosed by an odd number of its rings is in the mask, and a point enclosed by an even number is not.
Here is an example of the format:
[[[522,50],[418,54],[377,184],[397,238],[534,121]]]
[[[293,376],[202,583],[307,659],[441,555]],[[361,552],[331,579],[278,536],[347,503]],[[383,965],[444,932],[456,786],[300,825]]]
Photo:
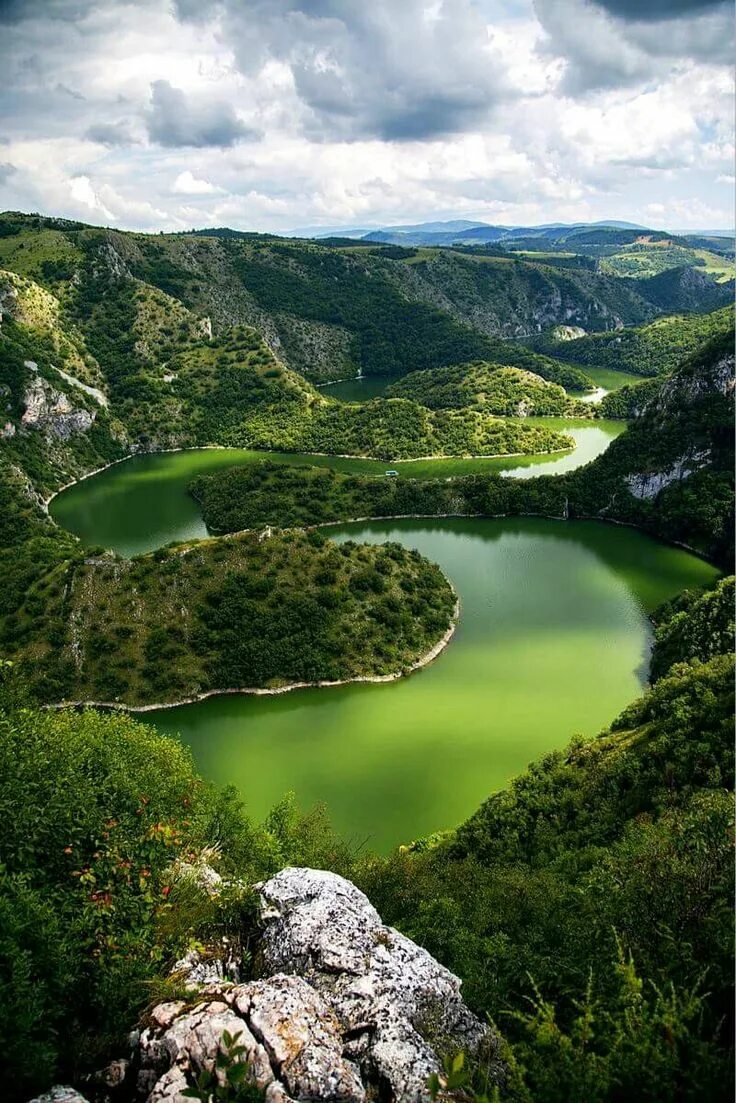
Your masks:
[[[710,1029],[725,1006],[729,269],[654,242],[634,277],[606,233],[0,216],[0,761],[23,779],[0,807],[35,794],[6,847],[10,953],[26,909],[46,942],[55,922],[35,864],[84,941],[72,982],[57,940],[43,1019],[68,1038],[85,993],[81,1065],[193,940],[257,940],[248,886],[285,866],[350,876],[481,1016],[522,1015],[530,974],[569,1008],[580,961],[618,1006],[619,932],[678,993],[715,963],[693,1007]],[[235,897],[180,890],[169,852]],[[662,949],[670,922],[692,951]],[[544,1082],[544,1047],[504,1029]]]

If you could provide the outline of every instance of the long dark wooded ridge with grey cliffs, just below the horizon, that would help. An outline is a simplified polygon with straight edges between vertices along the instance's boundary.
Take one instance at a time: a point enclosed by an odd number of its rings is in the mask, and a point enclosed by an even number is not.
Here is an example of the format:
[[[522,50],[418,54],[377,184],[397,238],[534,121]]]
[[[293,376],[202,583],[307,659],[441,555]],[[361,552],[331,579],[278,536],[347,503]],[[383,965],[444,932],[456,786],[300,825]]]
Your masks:
[[[230,231],[124,234],[36,215],[0,215],[0,267],[54,293],[83,329],[104,330],[94,299],[104,293],[109,302],[113,286],[120,301],[108,339],[114,330],[129,333],[134,293],[142,290],[154,313],[163,292],[179,303],[169,328],[186,323],[181,310],[195,323],[209,319],[214,335],[233,325],[255,326],[287,366],[316,381],[359,368],[383,374],[473,358],[504,363],[489,339],[567,322],[596,330],[636,324],[671,309],[668,295],[673,300],[682,295],[679,286],[658,285],[654,293],[646,280],[561,269],[541,259],[491,256],[482,248],[395,253],[366,243],[329,245]],[[687,309],[702,309],[698,296],[712,297],[712,281],[703,279],[691,287]],[[154,332],[160,335],[163,328]],[[146,335],[141,340],[156,356]],[[137,356],[135,350],[120,351],[127,360]]]

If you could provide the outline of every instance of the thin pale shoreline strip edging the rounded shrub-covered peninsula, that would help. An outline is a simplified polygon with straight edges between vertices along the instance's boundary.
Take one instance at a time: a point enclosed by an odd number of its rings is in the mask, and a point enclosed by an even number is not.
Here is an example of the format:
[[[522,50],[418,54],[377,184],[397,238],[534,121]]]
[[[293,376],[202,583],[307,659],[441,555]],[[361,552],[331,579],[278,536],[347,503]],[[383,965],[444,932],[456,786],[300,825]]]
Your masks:
[[[244,529],[244,532],[253,532],[253,529]],[[446,578],[446,576],[444,577]],[[337,678],[332,682],[327,679],[320,679],[318,682],[289,682],[282,686],[275,686],[271,689],[260,686],[206,689],[203,693],[191,694],[189,697],[181,697],[179,700],[154,703],[152,705],[125,705],[121,702],[114,700],[63,700],[46,705],[45,707],[50,709],[110,708],[120,713],[158,713],[168,708],[180,708],[184,705],[196,705],[198,702],[206,700],[209,697],[232,697],[237,695],[246,697],[278,697],[285,693],[292,693],[295,689],[329,689],[333,686],[359,684],[380,685],[382,683],[398,682],[401,678],[410,677],[412,674],[415,674],[417,671],[422,671],[426,666],[434,663],[434,661],[441,655],[455,635],[456,629],[460,622],[460,598],[450,580],[446,578],[446,581],[455,597],[455,607],[452,609],[452,615],[446,632],[435,644],[433,644],[429,651],[425,652],[424,655],[420,655],[409,666],[405,666],[401,671],[393,671],[391,674],[359,674],[353,678]]]

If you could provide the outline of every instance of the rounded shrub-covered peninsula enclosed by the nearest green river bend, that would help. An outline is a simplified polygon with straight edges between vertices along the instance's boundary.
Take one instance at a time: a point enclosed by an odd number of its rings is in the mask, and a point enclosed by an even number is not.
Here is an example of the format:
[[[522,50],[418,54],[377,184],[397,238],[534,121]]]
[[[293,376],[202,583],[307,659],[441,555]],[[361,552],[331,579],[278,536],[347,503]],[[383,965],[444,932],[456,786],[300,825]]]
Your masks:
[[[138,559],[81,554],[6,622],[44,700],[129,705],[408,668],[455,604],[438,567],[399,545],[243,535]]]

